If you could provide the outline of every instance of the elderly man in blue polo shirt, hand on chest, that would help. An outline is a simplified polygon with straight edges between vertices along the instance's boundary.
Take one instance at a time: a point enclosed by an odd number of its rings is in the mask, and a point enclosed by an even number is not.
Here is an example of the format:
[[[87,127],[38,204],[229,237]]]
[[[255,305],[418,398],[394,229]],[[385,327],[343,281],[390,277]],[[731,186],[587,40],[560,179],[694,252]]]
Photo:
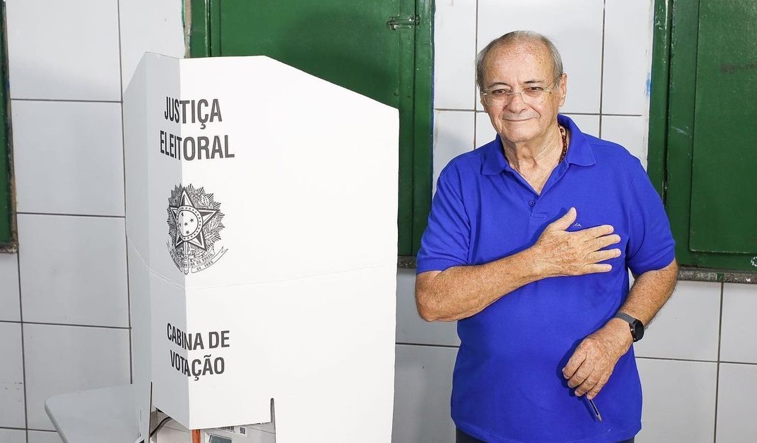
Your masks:
[[[558,115],[547,38],[508,33],[476,70],[497,138],[441,172],[416,279],[422,318],[457,321],[457,441],[633,441],[631,344],[678,270],[662,202],[627,150]]]

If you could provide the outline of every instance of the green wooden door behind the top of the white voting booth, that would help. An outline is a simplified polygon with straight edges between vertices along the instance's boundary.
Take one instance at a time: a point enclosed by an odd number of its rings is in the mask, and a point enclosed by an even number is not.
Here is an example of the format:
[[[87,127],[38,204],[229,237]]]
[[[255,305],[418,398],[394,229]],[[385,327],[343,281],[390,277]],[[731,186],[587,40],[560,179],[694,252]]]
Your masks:
[[[210,0],[192,7],[192,56],[267,55],[400,110],[399,250],[414,254],[431,195],[428,2]],[[416,51],[419,45],[425,50]],[[316,110],[299,105],[304,118]]]

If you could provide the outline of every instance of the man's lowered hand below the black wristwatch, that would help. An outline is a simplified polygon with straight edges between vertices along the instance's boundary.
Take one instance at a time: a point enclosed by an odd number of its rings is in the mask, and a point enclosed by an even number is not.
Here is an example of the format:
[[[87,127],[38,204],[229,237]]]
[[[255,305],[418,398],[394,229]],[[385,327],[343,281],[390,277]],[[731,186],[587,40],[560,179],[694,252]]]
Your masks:
[[[578,345],[562,368],[562,376],[568,380],[568,386],[575,389],[575,395],[586,394],[591,400],[600,393],[618,358],[628,352],[633,342],[628,323],[613,318]]]

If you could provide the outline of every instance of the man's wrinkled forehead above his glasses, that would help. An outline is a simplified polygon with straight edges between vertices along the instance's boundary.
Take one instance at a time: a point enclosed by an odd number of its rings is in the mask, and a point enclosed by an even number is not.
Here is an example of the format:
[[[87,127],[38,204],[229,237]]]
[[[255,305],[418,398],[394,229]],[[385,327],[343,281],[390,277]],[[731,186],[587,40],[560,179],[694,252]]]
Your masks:
[[[492,48],[484,59],[484,83],[491,77],[517,75],[552,81],[554,63],[544,43],[520,40]]]

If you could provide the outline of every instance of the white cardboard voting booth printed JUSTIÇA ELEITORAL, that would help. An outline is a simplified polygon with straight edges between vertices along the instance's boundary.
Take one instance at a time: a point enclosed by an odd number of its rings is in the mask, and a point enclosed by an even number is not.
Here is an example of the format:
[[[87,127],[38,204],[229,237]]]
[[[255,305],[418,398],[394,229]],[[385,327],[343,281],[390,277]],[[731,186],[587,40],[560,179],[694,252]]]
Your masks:
[[[391,441],[397,110],[269,57],[145,54],[123,120],[142,437],[157,408]]]

